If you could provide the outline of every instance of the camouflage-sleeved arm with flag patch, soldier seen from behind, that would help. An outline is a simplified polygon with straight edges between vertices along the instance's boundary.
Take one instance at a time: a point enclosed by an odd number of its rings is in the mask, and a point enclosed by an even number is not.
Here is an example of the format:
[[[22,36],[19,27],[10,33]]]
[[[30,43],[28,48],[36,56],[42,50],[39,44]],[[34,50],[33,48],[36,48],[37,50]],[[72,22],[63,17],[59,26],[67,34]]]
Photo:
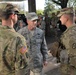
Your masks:
[[[19,73],[19,70],[26,69],[28,66],[27,57],[27,45],[24,37],[17,37],[16,55],[15,55],[15,70]]]

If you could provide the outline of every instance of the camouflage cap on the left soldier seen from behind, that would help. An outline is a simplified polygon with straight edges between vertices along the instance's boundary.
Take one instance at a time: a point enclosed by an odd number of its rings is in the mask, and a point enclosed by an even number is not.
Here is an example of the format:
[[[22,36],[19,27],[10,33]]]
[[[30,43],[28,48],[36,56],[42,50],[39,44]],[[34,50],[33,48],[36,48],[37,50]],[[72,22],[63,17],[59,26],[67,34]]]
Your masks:
[[[7,3],[5,7],[0,9],[0,18],[5,18],[12,13],[19,13],[18,8],[15,5]]]

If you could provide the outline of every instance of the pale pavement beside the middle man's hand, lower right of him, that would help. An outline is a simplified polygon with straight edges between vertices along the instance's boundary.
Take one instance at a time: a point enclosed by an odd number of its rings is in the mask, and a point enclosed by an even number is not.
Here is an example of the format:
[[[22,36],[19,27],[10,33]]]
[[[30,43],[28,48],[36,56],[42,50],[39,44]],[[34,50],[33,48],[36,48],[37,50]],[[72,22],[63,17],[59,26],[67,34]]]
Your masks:
[[[60,75],[60,63],[57,63],[57,59],[55,57],[48,57],[48,65],[43,68],[45,75]]]

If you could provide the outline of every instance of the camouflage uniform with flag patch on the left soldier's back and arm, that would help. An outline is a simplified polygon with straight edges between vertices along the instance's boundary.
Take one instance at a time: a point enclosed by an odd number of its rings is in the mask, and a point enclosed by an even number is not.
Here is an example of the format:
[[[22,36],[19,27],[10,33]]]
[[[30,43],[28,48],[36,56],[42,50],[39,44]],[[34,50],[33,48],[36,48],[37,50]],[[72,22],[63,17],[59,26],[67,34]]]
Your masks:
[[[18,72],[28,65],[26,54],[25,38],[11,27],[0,26],[0,75],[22,75]]]

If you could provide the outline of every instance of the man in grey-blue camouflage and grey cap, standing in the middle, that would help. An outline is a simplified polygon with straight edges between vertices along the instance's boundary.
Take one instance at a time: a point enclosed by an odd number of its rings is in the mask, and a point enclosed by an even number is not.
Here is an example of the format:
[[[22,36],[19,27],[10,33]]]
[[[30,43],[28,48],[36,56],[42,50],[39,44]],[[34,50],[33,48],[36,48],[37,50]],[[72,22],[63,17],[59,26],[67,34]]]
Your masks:
[[[47,45],[44,32],[37,28],[38,16],[34,12],[26,15],[28,26],[20,29],[18,32],[22,34],[27,41],[29,53],[30,75],[43,75],[43,65],[47,65]]]

